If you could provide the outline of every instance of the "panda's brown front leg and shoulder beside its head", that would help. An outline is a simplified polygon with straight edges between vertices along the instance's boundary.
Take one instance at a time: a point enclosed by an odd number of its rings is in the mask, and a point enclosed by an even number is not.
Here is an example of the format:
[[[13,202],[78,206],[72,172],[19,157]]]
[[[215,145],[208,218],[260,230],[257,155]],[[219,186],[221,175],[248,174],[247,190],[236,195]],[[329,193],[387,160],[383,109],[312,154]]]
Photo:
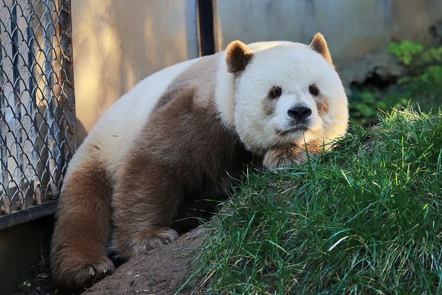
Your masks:
[[[201,209],[214,207],[203,200],[224,196],[229,175],[238,176],[251,160],[215,110],[215,85],[207,82],[213,79],[204,79],[215,75],[216,68],[206,68],[210,64],[203,59],[171,84],[116,179],[113,238],[126,258],[195,227],[195,217],[206,215]],[[188,81],[195,73],[204,87]]]

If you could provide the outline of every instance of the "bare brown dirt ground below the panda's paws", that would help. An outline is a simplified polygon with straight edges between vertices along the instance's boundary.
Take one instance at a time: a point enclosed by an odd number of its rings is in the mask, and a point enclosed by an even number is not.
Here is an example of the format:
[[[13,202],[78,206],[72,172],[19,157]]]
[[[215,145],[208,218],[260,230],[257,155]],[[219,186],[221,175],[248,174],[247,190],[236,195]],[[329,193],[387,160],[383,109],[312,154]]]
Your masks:
[[[191,263],[206,234],[198,228],[166,246],[148,251],[119,266],[115,272],[84,291],[83,295],[173,295],[186,281]],[[51,283],[47,263],[32,266],[33,278],[9,295],[70,295]],[[180,295],[205,294],[183,290]]]

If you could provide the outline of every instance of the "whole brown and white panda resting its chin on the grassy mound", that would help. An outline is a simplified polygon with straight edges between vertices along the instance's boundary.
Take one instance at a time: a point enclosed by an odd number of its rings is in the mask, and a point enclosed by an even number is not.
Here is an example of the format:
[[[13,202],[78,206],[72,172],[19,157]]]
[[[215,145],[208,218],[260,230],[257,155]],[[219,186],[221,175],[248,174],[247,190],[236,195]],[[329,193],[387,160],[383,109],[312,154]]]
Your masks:
[[[234,41],[147,77],[70,162],[52,240],[55,283],[83,287],[111,273],[107,249],[128,259],[176,239],[195,226],[186,217],[210,209],[198,201],[224,196],[244,163],[300,164],[304,147],[318,152],[347,121],[320,33],[310,45]]]

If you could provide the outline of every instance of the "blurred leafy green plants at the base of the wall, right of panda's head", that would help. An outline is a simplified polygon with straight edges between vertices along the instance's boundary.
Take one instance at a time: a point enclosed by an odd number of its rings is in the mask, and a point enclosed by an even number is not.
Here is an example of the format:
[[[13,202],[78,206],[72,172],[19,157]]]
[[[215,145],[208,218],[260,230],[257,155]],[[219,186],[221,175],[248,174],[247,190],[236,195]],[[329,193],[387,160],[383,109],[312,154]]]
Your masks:
[[[386,87],[353,87],[352,125],[375,124],[382,112],[409,102],[427,112],[442,106],[442,47],[425,49],[422,44],[403,41],[390,43],[387,50],[404,66],[405,75],[391,77]]]

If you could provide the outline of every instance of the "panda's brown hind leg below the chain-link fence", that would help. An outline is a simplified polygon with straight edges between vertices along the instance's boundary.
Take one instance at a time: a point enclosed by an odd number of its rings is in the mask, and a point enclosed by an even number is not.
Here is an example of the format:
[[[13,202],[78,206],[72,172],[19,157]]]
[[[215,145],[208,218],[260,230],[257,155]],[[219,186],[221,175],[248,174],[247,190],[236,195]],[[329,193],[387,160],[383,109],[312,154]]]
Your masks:
[[[51,246],[56,285],[87,287],[114,266],[106,256],[111,234],[111,183],[102,163],[78,167],[64,180]]]

